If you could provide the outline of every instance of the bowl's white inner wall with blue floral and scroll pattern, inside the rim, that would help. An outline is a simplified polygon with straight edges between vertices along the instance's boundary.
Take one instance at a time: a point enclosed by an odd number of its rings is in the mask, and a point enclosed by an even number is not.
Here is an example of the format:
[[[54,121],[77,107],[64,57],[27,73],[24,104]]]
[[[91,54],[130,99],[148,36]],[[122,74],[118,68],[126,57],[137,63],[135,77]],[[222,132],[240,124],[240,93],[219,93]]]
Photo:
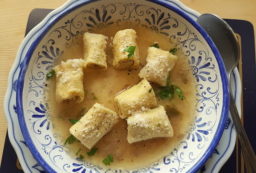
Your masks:
[[[24,104],[28,105],[26,117],[29,117],[26,125],[35,143],[40,144],[38,150],[41,155],[44,155],[48,163],[54,167],[69,173],[157,173],[167,172],[166,170],[178,173],[190,169],[192,165],[190,163],[198,161],[206,149],[205,146],[210,145],[214,136],[213,131],[219,123],[218,115],[221,111],[219,107],[222,105],[218,65],[202,36],[199,36],[200,34],[193,26],[178,17],[176,13],[161,6],[148,6],[135,2],[103,4],[90,9],[82,8],[70,16],[74,17],[63,18],[53,26],[30,60],[28,87],[27,90],[24,89],[26,94]],[[152,165],[126,171],[98,167],[79,158],[76,158],[73,163],[66,163],[66,160],[70,160],[68,147],[60,145],[56,134],[50,133],[52,126],[45,75],[65,53],[64,48],[70,47],[79,34],[92,32],[96,28],[104,28],[107,25],[127,23],[139,25],[160,34],[188,57],[188,63],[198,82],[196,109],[198,117],[191,125],[186,139],[181,141],[170,155]],[[35,100],[42,100],[42,102],[38,103]]]

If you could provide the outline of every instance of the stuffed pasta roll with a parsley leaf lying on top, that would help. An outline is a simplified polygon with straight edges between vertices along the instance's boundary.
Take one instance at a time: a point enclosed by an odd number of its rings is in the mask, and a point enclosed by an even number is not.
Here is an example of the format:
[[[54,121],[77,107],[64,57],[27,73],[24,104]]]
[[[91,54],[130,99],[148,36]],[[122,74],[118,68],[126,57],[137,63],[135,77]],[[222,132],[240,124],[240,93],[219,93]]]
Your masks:
[[[136,32],[132,29],[126,29],[116,32],[112,42],[113,66],[114,68],[138,68],[140,65],[140,53],[137,44]],[[128,58],[128,52],[124,49],[128,46],[136,46],[134,54]]]

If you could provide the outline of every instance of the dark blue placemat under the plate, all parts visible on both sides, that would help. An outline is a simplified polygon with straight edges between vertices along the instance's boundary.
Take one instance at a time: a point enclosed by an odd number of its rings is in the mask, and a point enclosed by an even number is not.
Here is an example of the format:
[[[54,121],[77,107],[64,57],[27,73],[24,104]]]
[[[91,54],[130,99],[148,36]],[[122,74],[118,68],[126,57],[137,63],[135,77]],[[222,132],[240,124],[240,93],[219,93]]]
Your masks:
[[[52,9],[34,9],[29,15],[26,34],[34,28],[44,17],[50,13]],[[241,37],[242,50],[242,70],[239,69],[240,76],[242,76],[242,114],[244,119],[244,128],[248,134],[248,138],[252,143],[254,152],[256,151],[256,66],[255,66],[255,46],[254,46],[254,29],[250,22],[245,20],[225,19],[226,22],[234,29],[234,32]],[[238,67],[239,68],[239,67]],[[238,152],[236,152],[238,151]],[[241,157],[240,143],[237,143],[235,149],[220,170],[220,173],[246,173]],[[204,168],[201,169],[204,171]],[[4,151],[2,155],[2,162],[0,173],[24,173],[20,167],[17,155],[10,144],[9,137],[6,134],[4,143]]]

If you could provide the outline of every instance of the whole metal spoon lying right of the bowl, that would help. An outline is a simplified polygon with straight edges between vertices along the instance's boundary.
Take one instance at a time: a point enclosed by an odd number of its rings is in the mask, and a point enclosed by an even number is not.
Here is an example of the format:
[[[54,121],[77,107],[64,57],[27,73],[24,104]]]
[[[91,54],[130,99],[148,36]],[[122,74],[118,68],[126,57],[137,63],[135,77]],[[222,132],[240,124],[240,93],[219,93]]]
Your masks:
[[[238,65],[240,58],[240,47],[237,37],[232,28],[215,14],[202,14],[199,16],[196,22],[198,22],[198,24],[202,26],[202,28],[204,28],[204,30],[210,36],[218,48],[226,67],[230,91],[229,111],[231,113],[234,125],[236,127],[236,133],[241,143],[247,173],[256,173],[256,156],[244,131],[244,127],[242,126],[230,86],[230,74],[232,70],[234,70],[234,68]]]

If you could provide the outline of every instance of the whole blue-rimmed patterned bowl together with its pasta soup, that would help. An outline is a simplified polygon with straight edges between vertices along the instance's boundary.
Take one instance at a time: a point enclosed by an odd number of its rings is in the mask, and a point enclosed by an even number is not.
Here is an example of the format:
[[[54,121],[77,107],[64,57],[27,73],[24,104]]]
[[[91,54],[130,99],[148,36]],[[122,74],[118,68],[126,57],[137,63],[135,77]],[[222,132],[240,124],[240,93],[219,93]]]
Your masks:
[[[22,64],[18,116],[54,172],[195,172],[228,112],[220,55],[160,1],[77,1],[44,26]]]

